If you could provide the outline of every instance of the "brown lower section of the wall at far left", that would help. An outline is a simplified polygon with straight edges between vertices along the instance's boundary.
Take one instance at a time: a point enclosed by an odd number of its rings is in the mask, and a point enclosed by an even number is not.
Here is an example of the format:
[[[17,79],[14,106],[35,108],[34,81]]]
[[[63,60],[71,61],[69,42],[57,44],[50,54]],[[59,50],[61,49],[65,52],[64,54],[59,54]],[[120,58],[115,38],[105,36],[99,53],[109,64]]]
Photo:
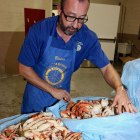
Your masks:
[[[24,32],[0,32],[0,74],[17,74]]]

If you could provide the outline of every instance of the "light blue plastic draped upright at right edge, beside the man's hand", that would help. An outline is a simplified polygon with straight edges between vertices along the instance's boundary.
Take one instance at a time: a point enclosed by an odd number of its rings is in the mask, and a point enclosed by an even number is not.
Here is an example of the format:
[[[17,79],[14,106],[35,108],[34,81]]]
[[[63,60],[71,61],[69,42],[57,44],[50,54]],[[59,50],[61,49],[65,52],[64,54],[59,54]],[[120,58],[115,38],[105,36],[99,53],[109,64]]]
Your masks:
[[[129,61],[124,65],[121,80],[128,88],[132,103],[140,111],[140,59]]]

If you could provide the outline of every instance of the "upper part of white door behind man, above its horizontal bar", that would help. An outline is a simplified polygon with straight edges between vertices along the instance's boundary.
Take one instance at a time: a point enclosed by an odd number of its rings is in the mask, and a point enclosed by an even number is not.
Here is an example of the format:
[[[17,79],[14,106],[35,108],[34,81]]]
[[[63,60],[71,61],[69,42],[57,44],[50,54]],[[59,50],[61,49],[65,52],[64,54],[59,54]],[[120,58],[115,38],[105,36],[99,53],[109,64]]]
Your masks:
[[[117,36],[120,6],[91,3],[88,11],[88,27],[99,38],[114,39]]]

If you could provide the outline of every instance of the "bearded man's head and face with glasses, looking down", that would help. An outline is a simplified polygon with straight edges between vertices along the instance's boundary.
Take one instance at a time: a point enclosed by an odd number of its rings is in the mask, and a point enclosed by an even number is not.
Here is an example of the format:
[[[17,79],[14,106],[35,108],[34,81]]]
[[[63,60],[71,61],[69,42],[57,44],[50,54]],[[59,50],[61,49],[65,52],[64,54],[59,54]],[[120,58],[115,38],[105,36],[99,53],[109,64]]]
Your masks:
[[[75,34],[82,27],[82,19],[86,18],[88,8],[88,1],[66,0],[64,8],[58,9],[60,13],[58,22],[60,29],[66,35],[71,36]]]

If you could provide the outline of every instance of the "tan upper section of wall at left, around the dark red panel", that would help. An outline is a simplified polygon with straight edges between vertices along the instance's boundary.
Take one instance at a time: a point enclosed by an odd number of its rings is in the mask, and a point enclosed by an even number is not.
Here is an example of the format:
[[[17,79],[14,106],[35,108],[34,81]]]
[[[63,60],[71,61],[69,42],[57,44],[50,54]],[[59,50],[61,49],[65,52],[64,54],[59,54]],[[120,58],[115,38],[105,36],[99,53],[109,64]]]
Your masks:
[[[0,0],[0,31],[24,31],[24,8],[52,13],[52,0]]]

